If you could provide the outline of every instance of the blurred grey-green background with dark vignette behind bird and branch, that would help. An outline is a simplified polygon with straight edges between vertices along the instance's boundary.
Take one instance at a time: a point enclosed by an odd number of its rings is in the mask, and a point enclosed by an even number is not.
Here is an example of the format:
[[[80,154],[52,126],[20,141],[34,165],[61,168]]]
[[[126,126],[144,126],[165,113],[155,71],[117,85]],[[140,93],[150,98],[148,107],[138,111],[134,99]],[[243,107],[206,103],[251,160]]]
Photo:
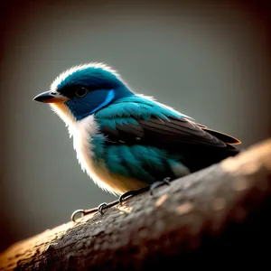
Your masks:
[[[1,1],[0,250],[117,198],[80,170],[64,123],[33,97],[89,61],[137,93],[237,136],[271,135],[270,0]]]

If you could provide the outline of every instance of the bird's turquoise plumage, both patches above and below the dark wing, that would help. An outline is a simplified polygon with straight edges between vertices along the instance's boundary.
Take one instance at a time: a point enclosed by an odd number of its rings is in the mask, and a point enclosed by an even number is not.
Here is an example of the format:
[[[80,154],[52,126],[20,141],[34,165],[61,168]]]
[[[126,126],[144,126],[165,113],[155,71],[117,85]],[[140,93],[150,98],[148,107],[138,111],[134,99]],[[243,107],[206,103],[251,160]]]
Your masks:
[[[101,130],[105,126],[116,129],[116,124],[139,125],[137,120],[147,121],[150,117],[169,120],[168,117],[183,116],[159,106],[152,100],[137,96],[118,99],[95,114]],[[94,159],[103,159],[110,172],[132,176],[149,183],[155,182],[157,175],[171,174],[171,164],[182,159],[181,154],[169,153],[154,146],[107,145],[107,139],[100,135],[91,135],[91,140],[94,145]]]

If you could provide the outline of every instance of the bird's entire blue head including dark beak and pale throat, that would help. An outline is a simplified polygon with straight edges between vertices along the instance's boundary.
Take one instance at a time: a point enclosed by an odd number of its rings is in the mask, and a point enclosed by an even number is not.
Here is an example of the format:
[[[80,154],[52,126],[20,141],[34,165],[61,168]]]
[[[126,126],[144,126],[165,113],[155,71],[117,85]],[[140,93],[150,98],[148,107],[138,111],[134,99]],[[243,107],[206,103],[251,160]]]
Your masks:
[[[33,100],[49,103],[66,122],[80,120],[119,98],[134,95],[116,70],[102,63],[79,65],[62,72]]]

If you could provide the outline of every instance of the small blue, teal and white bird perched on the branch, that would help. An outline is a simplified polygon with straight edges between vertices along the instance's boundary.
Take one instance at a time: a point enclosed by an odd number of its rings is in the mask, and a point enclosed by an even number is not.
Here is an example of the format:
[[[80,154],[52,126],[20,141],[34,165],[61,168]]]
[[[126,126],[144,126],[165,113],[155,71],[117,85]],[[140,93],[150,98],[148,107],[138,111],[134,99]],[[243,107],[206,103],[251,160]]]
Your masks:
[[[68,127],[83,172],[120,201],[240,152],[238,138],[138,94],[104,62],[62,71],[33,100],[50,105]]]

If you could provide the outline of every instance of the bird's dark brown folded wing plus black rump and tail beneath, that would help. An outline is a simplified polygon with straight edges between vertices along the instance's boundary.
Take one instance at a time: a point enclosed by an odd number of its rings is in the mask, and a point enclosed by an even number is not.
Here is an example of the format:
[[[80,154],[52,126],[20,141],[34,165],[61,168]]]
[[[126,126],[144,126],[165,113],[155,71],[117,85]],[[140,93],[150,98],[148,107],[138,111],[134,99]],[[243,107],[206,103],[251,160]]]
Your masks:
[[[169,120],[151,117],[149,120],[136,121],[137,125],[116,123],[116,128],[101,126],[101,132],[107,136],[107,144],[149,145],[181,154],[182,163],[192,172],[239,152],[229,145],[238,144],[238,139],[199,126],[184,117]]]

